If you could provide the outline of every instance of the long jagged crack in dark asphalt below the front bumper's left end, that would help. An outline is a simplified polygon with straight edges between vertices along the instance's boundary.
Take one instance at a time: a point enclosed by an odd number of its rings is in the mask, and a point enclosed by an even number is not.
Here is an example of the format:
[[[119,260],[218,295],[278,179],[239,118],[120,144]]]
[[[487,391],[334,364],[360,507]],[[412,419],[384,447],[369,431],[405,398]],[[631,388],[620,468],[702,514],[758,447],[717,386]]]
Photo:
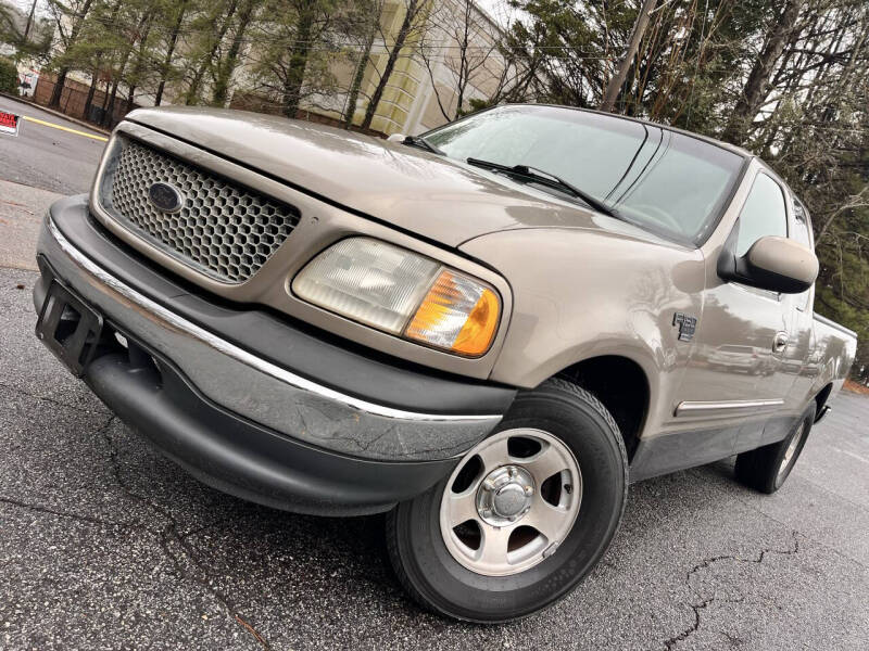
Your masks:
[[[272,647],[265,637],[263,637],[263,635],[257,631],[256,628],[245,621],[240,612],[240,609],[232,601],[232,599],[222,590],[215,588],[212,585],[212,582],[209,580],[209,567],[199,561],[196,550],[187,539],[190,533],[181,533],[178,521],[167,509],[161,506],[158,501],[136,493],[136,490],[134,490],[124,480],[121,473],[121,464],[118,462],[117,445],[114,437],[109,433],[109,426],[115,419],[116,417],[114,416],[110,418],[109,422],[98,432],[98,434],[101,435],[106,443],[109,449],[109,462],[112,467],[112,474],[115,478],[115,482],[124,492],[124,494],[127,495],[127,497],[150,508],[164,520],[165,525],[160,532],[158,532],[158,540],[163,554],[172,563],[175,573],[180,578],[200,586],[200,588],[211,595],[227,611],[227,613],[229,613],[229,615],[242,628],[244,628],[247,633],[252,635],[257,643],[263,647],[263,649],[270,649]],[[188,565],[192,565],[192,569],[188,567]]]

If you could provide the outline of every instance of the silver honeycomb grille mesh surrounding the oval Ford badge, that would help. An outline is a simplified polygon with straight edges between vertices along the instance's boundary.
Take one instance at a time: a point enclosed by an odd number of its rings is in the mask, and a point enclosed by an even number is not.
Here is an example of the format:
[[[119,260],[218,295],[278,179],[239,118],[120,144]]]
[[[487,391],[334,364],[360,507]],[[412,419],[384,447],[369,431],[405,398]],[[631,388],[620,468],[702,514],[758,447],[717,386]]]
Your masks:
[[[178,213],[159,210],[151,184],[174,186]],[[241,283],[292,232],[298,212],[134,141],[119,152],[104,201],[113,216],[161,251],[215,280]]]

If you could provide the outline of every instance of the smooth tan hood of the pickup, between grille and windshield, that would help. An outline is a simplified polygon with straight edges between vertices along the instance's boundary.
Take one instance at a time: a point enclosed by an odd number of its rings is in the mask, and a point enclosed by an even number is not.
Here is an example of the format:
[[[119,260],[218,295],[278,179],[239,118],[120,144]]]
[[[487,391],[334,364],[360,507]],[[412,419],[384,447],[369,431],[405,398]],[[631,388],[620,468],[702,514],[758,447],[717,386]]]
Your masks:
[[[521,228],[585,228],[662,242],[502,175],[352,131],[201,107],[139,108],[126,119],[452,247]]]

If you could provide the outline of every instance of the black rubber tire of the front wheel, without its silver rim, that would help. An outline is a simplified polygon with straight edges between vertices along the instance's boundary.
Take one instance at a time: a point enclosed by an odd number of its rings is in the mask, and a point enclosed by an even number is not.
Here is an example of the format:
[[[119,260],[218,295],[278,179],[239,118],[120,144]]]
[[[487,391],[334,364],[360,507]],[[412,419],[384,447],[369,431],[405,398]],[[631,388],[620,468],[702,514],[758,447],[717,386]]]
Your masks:
[[[582,474],[577,521],[555,552],[505,577],[474,573],[446,549],[440,532],[443,480],[393,513],[394,553],[412,588],[454,617],[503,622],[531,614],[569,592],[597,562],[618,527],[627,493],[627,460],[618,429],[600,404],[564,386],[543,385],[517,397],[496,432],[543,430],[574,452]],[[593,398],[591,399],[594,403]],[[615,427],[615,431],[614,431]]]

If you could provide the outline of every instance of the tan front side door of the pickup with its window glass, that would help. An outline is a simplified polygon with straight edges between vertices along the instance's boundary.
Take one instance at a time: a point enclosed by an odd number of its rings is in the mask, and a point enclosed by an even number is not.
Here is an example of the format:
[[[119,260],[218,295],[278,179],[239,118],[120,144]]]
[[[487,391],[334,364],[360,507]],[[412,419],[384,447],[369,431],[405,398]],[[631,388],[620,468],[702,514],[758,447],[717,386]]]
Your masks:
[[[785,193],[758,170],[739,219],[736,255],[765,235],[788,235]],[[706,260],[709,281],[695,347],[676,406],[676,420],[715,432],[721,458],[760,441],[770,413],[781,409],[793,380],[782,369],[789,304],[776,293],[721,280],[717,259]]]

